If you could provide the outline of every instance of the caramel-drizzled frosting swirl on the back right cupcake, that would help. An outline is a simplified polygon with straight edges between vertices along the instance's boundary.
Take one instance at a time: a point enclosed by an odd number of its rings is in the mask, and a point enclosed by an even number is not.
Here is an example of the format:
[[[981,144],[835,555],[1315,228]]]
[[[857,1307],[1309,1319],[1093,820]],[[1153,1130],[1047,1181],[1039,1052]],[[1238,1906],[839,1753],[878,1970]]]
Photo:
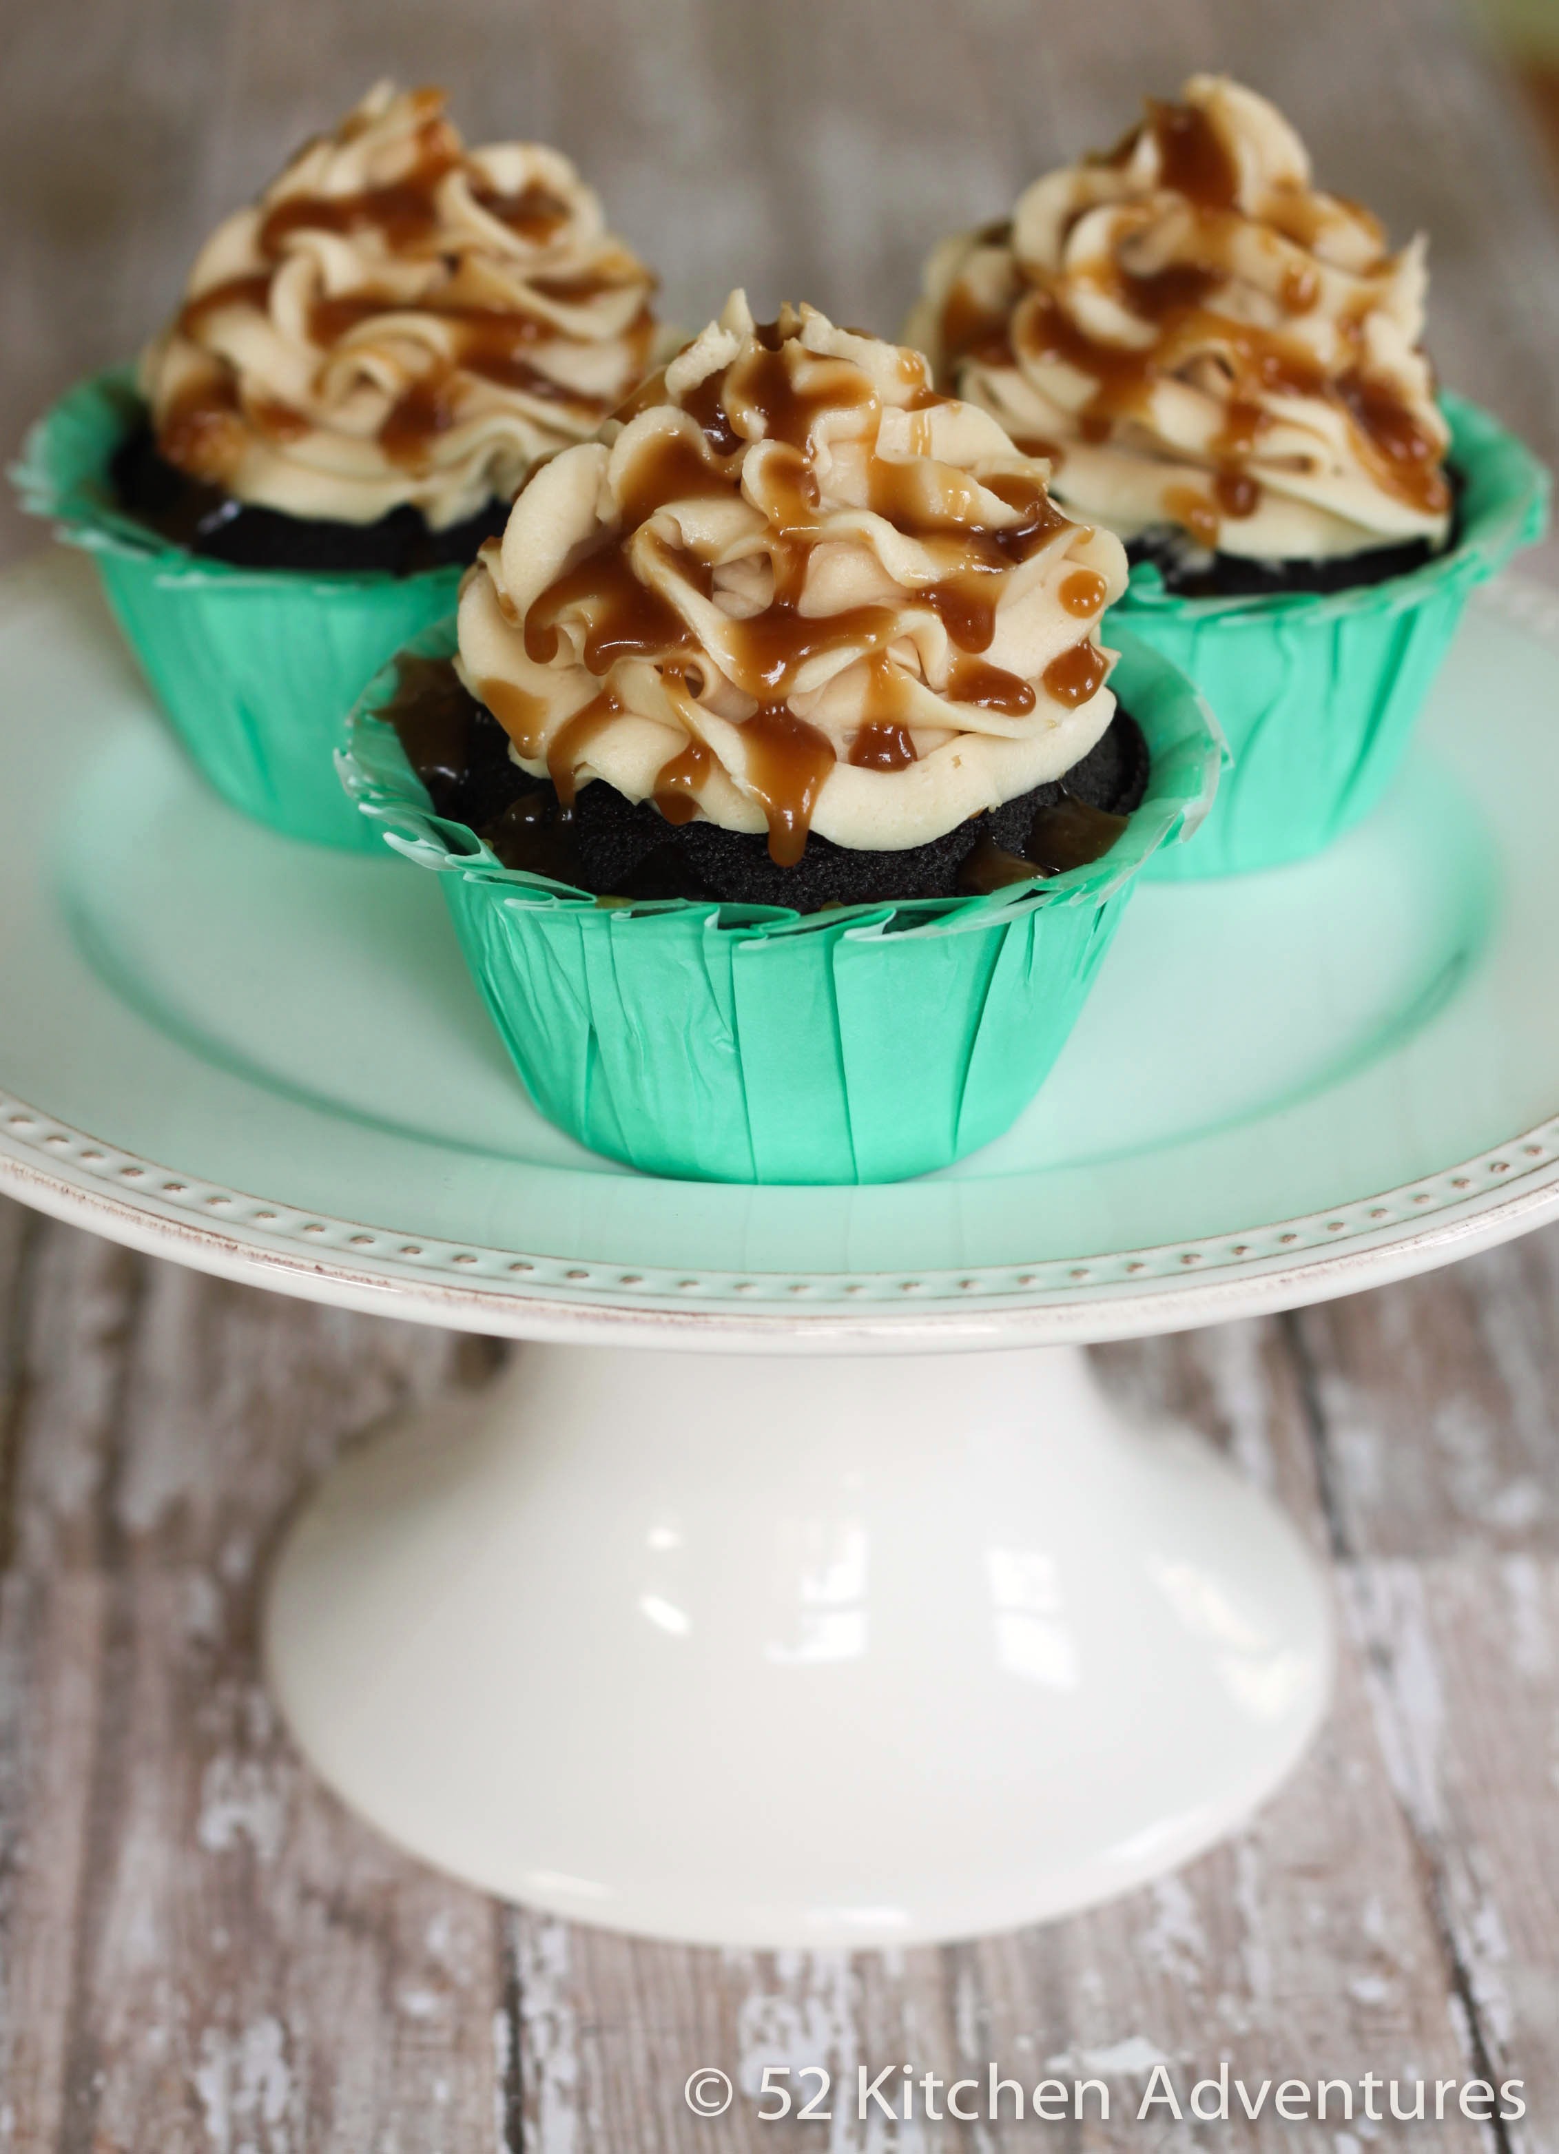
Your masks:
[[[1193,75],[1010,224],[943,241],[911,334],[1077,515],[1324,558],[1447,536],[1423,297],[1423,239],[1391,254],[1264,97]]]

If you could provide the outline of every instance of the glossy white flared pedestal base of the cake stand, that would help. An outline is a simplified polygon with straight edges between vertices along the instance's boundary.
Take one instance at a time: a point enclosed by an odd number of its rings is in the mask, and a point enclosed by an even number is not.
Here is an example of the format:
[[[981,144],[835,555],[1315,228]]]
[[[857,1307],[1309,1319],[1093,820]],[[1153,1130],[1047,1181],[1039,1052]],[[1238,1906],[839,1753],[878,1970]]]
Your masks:
[[[1320,1577],[1075,1346],[525,1346],[325,1480],[276,1697],[381,1831],[579,1921],[902,1945],[1240,1824],[1326,1704]]]

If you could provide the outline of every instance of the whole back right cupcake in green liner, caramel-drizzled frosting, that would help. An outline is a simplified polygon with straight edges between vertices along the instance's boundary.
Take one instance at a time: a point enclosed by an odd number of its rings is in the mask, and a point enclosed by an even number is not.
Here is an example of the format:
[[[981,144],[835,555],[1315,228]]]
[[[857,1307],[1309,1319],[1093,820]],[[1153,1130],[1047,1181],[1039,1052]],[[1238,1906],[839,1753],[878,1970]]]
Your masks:
[[[1473,584],[1537,534],[1544,474],[1436,401],[1425,246],[1311,185],[1221,75],[945,241],[911,338],[1128,545],[1120,618],[1208,694],[1234,771],[1161,872],[1314,853],[1378,799]]]

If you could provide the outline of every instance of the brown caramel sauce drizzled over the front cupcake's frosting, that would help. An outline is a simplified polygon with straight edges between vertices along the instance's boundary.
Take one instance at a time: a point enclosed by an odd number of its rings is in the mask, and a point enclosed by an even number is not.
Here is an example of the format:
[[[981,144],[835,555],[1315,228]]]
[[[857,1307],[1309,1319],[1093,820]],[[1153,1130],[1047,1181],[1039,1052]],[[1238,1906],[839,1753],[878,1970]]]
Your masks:
[[[532,601],[523,623],[525,653],[536,666],[558,659],[566,618],[568,633],[579,638],[579,657],[596,679],[605,681],[622,659],[648,659],[668,679],[687,679],[698,668],[698,642],[676,607],[633,573],[629,543],[668,502],[730,493],[736,474],[724,465],[749,442],[780,444],[782,452],[769,459],[764,474],[773,489],[767,541],[773,597],[745,620],[728,618],[721,648],[721,670],[754,704],[752,715],[739,722],[745,782],[764,810],[769,853],[780,866],[795,866],[801,857],[818,793],[835,765],[827,735],[788,702],[810,659],[840,651],[870,659],[868,715],[848,747],[851,765],[898,771],[915,760],[907,683],[887,655],[887,646],[902,635],[902,607],[853,605],[823,616],[801,610],[810,547],[820,526],[818,489],[810,470],[812,431],[823,411],[868,409],[876,401],[874,390],[848,362],[805,353],[797,364],[801,347],[790,353],[788,342],[790,336],[780,325],[764,325],[756,349],[743,351],[685,396],[683,409],[698,422],[700,439],[665,433],[642,448],[622,474],[620,523]],[[945,401],[926,386],[919,362],[911,386],[915,409],[928,411]],[[928,444],[930,435],[922,446]],[[872,506],[900,530],[926,541],[941,538],[958,560],[945,577],[913,592],[911,601],[937,612],[956,646],[947,694],[1016,717],[1036,707],[1034,685],[991,666],[980,653],[995,633],[1006,573],[1068,528],[1068,517],[1053,506],[1036,476],[999,474],[988,480],[988,489],[1016,510],[1010,526],[978,519],[978,487],[967,474],[932,463],[894,463],[876,454],[868,465]],[[674,564],[711,592],[711,564],[685,551],[674,554]],[[1079,616],[1098,612],[1105,595],[1102,577],[1094,571],[1081,575],[1081,584],[1072,577],[1072,610]],[[1087,597],[1087,607],[1077,603],[1079,595]],[[1107,670],[1098,646],[1083,642],[1051,663],[1044,685],[1059,702],[1077,707],[1096,694]],[[525,750],[528,739],[534,743],[534,713],[521,709],[515,713],[519,724],[512,724],[502,700],[487,700],[519,741],[521,754],[534,756],[534,745]],[[603,687],[553,737],[547,767],[564,803],[573,799],[590,743],[618,709]],[[668,821],[680,823],[696,812],[698,791],[711,769],[711,750],[700,741],[689,741],[661,767],[652,797]]]

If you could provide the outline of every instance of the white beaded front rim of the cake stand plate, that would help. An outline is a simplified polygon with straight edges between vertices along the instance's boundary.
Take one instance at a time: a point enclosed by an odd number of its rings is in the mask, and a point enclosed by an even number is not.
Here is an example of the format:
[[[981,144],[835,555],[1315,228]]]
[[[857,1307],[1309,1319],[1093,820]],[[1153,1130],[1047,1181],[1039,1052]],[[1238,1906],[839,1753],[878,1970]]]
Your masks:
[[[159,1167],[84,1135],[52,1116],[0,1092],[0,1176],[6,1161],[17,1180],[43,1178],[84,1200],[159,1219],[174,1232],[198,1234],[235,1249],[250,1249],[308,1271],[338,1277],[418,1284],[433,1290],[495,1295],[508,1301],[571,1301],[622,1307],[689,1303],[799,1310],[799,1307],[926,1307],[928,1303],[1062,1301],[1115,1297],[1122,1290],[1165,1288],[1186,1275],[1240,1275],[1335,1258],[1348,1247],[1395,1243],[1449,1213],[1477,1217],[1518,1193],[1559,1180],[1559,1116],[1492,1152],[1481,1152],[1443,1174],[1423,1176],[1335,1211],[1283,1219],[1242,1234],[1167,1243],[1087,1260],[1044,1260],[982,1271],[917,1273],[732,1273],[624,1271],[577,1258],[523,1256],[512,1249],[394,1234],[383,1228],[293,1211],[237,1189]],[[26,1195],[26,1187],[22,1189]],[[90,1223],[90,1219],[88,1219]]]

